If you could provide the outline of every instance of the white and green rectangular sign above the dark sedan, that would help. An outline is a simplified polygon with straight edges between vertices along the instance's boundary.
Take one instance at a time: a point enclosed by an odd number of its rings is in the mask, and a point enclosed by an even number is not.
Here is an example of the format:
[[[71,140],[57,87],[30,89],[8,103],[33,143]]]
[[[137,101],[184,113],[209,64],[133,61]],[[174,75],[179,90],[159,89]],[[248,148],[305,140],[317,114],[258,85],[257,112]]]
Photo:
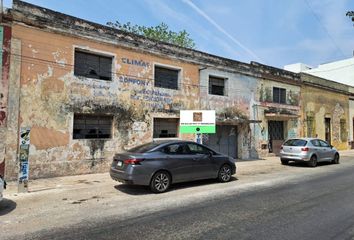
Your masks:
[[[180,133],[215,133],[214,110],[181,110]]]

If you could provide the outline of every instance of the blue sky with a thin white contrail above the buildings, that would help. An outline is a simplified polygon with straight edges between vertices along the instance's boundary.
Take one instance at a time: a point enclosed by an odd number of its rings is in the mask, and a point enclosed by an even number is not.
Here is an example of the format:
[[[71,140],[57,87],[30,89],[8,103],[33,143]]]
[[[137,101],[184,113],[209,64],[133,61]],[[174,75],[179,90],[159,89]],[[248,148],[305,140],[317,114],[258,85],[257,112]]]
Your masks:
[[[93,22],[167,23],[187,30],[197,49],[283,68],[353,56],[354,0],[26,0]],[[11,7],[11,0],[4,0]]]

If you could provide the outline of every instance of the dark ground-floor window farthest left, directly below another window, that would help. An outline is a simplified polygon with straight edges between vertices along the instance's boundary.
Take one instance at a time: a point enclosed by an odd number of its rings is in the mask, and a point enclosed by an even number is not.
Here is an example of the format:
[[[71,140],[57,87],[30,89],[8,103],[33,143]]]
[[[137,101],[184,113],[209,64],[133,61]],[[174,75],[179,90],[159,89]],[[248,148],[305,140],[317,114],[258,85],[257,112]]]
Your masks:
[[[74,139],[100,139],[112,137],[112,116],[74,114]]]

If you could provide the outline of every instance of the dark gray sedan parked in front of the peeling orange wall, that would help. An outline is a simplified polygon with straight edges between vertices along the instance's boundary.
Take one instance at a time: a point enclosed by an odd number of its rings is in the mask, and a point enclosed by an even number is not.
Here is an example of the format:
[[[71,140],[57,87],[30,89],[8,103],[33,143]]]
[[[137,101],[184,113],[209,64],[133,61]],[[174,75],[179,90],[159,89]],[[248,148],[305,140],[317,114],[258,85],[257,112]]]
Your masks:
[[[215,178],[228,182],[236,173],[235,159],[189,141],[151,142],[114,156],[112,179],[150,186],[155,193],[172,183]]]

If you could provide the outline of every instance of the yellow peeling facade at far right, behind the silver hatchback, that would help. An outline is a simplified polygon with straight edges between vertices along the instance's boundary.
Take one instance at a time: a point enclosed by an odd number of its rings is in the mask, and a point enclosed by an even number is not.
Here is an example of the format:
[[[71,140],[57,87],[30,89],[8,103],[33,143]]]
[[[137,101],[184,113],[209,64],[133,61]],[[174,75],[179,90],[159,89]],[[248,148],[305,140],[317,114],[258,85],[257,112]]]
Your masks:
[[[338,149],[347,149],[348,138],[346,136],[349,133],[348,87],[310,75],[302,75],[302,79],[305,82],[301,89],[304,135],[312,134],[325,139],[325,118],[329,118],[331,121],[331,144]],[[332,88],[328,89],[331,85],[333,85]],[[345,121],[345,129],[341,129],[341,121]],[[312,124],[312,133],[308,132],[309,124]],[[341,132],[343,130],[345,132]]]

